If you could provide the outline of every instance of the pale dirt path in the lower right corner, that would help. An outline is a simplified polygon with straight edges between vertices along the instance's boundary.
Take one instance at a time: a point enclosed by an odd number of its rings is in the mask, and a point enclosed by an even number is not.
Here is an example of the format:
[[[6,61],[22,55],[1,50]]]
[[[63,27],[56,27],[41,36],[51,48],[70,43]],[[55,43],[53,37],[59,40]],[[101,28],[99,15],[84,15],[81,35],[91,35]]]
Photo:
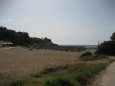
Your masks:
[[[115,86],[115,62],[95,78],[91,86]]]

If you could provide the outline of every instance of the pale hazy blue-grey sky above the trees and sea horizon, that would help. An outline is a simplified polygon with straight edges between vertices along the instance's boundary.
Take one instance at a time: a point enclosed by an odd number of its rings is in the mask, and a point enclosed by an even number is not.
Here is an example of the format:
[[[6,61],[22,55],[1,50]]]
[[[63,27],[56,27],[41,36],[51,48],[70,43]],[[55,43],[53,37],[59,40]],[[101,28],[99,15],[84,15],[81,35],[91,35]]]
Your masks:
[[[0,0],[0,26],[60,45],[95,45],[115,32],[115,0]]]

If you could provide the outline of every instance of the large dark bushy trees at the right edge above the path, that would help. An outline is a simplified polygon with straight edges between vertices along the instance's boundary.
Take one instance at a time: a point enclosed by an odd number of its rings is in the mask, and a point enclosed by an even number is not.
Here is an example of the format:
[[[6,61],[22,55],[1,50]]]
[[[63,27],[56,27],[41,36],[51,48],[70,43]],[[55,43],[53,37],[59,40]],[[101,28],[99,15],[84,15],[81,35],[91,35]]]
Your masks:
[[[115,32],[110,37],[109,41],[105,41],[99,45],[96,54],[115,56]]]

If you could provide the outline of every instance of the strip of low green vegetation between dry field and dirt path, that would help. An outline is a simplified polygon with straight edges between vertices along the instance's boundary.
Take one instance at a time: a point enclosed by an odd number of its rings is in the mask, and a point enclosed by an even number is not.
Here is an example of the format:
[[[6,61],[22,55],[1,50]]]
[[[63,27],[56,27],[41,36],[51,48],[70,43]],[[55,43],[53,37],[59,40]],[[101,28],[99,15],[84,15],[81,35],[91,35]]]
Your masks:
[[[41,80],[40,83],[37,83],[35,80],[33,81],[33,84],[31,82],[31,85],[38,86],[39,84],[39,86],[83,86],[88,84],[92,77],[94,77],[100,71],[104,70],[111,62],[113,62],[113,60],[108,60],[104,63],[76,63],[49,69],[46,68],[44,71],[38,74],[41,74],[41,76],[32,76],[36,79],[43,78],[43,80]],[[21,81],[21,85],[20,83],[17,83],[17,81],[13,83],[15,84],[14,86],[30,86],[27,85],[27,81]]]

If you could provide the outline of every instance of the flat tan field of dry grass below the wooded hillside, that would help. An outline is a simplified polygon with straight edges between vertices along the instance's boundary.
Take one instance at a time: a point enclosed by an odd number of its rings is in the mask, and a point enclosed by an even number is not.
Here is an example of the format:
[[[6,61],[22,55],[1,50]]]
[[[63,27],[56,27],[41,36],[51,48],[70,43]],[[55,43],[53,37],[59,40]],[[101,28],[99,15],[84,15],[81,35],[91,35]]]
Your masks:
[[[0,86],[46,67],[55,67],[78,60],[80,52],[0,48]]]

